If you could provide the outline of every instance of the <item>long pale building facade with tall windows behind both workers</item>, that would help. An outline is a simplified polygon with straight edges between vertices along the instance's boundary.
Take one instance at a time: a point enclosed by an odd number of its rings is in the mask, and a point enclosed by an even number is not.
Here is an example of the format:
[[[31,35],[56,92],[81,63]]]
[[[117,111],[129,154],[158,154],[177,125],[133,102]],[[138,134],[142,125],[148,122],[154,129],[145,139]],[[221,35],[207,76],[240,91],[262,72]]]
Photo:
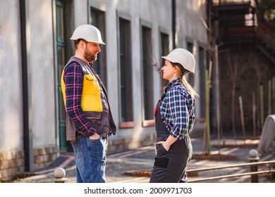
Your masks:
[[[0,3],[0,180],[49,165],[70,151],[60,77],[75,27],[92,24],[106,46],[94,67],[118,127],[109,153],[154,144],[154,105],[165,82],[161,56],[175,47],[197,61],[190,82],[204,92],[205,1],[5,0]],[[203,96],[197,123],[204,120]]]

